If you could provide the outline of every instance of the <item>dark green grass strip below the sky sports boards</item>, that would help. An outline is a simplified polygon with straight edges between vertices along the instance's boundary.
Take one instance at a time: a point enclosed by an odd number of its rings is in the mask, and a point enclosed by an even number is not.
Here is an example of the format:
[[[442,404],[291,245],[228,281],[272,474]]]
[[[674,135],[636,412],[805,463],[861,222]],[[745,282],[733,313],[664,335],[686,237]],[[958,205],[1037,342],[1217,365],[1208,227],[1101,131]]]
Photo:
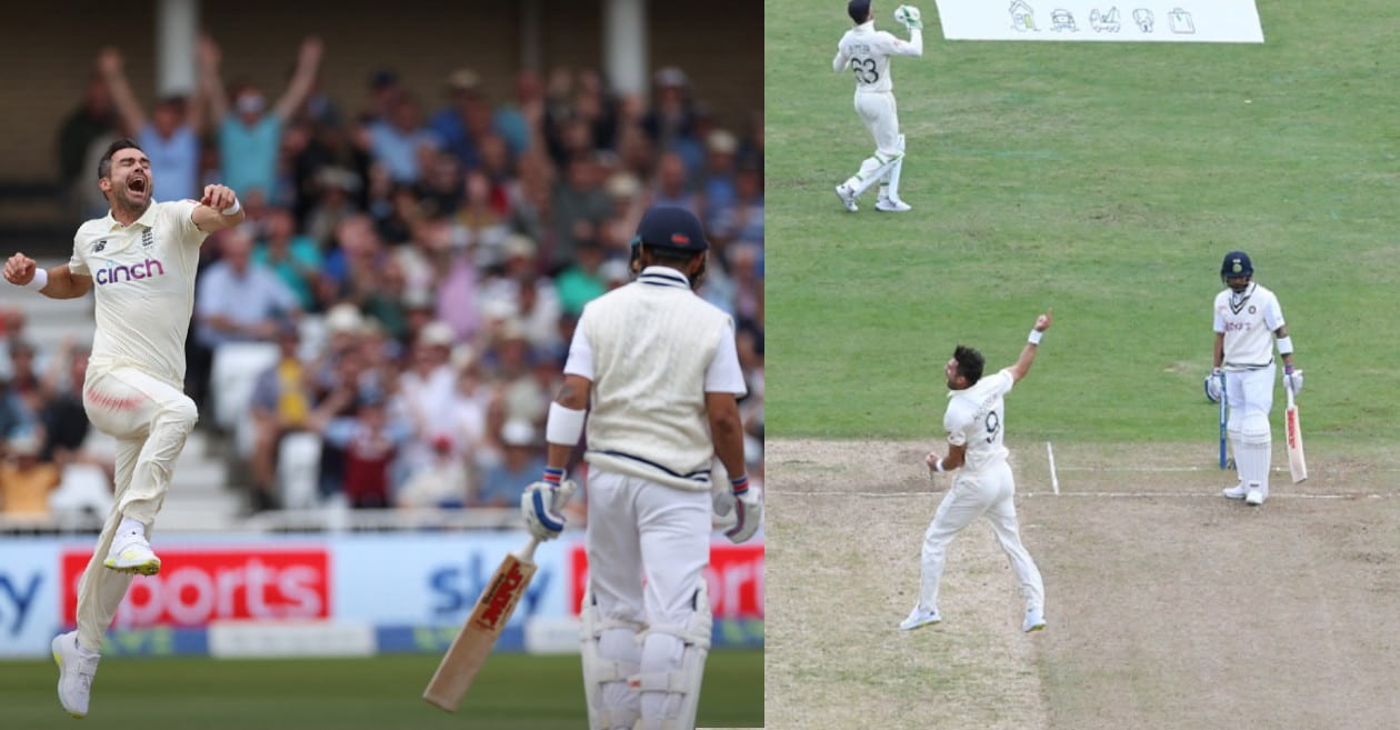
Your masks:
[[[435,656],[349,660],[105,660],[84,729],[396,730],[587,727],[577,656],[493,656],[462,709],[420,699]],[[80,727],[59,706],[52,661],[0,663],[0,727]],[[715,652],[699,724],[763,724],[763,653]]]

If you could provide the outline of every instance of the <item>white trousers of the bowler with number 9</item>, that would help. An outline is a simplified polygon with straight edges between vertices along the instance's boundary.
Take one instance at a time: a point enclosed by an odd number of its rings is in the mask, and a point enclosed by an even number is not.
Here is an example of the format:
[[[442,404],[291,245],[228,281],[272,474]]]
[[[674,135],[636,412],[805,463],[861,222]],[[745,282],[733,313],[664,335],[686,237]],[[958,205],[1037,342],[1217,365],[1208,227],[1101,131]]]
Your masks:
[[[1016,574],[1026,605],[1044,607],[1046,588],[1040,580],[1040,569],[1021,544],[1021,534],[1016,531],[1015,493],[1016,485],[1005,460],[977,471],[956,472],[952,489],[944,495],[938,513],[924,534],[918,608],[938,610],[938,583],[944,577],[948,544],[983,516],[991,523],[997,544],[1011,560],[1011,570]]]

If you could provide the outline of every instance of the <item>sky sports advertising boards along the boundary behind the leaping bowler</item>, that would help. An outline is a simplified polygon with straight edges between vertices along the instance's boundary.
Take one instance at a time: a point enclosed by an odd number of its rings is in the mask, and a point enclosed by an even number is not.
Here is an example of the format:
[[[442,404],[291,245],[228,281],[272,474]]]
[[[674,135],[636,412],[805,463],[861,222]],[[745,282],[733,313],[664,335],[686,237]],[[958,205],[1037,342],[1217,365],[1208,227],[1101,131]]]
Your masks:
[[[137,577],[112,654],[260,656],[442,652],[524,532],[165,535],[162,570]],[[0,657],[46,656],[76,622],[87,539],[4,538]],[[535,579],[501,650],[570,650],[588,576],[582,535],[535,552]],[[763,545],[714,541],[706,572],[717,646],[763,646]]]

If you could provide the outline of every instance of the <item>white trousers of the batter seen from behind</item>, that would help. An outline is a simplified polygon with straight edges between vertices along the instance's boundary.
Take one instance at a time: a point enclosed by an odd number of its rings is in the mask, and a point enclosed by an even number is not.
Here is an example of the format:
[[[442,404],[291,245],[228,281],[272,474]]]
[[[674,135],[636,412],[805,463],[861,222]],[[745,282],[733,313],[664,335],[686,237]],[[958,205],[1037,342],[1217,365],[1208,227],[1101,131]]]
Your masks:
[[[708,492],[589,472],[588,584],[599,618],[669,626],[690,622],[694,591],[710,565],[710,504]],[[643,673],[679,668],[685,643],[669,633],[648,632],[640,656],[636,649],[634,635],[624,631],[605,632],[599,643],[603,659],[637,663]],[[608,705],[631,706],[644,723],[665,715],[665,695],[658,692],[637,696],[622,682],[603,691]]]

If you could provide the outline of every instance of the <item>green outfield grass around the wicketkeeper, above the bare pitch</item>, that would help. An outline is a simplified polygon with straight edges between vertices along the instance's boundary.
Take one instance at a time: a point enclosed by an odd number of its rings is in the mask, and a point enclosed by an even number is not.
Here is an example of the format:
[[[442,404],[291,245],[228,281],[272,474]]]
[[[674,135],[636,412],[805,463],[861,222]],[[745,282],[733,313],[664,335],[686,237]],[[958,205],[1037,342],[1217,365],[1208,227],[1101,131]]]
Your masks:
[[[1400,11],[1259,8],[1264,45],[1016,43],[944,41],[927,3],[924,57],[893,60],[916,209],[892,216],[832,192],[874,147],[830,70],[844,3],[766,0],[770,433],[941,436],[953,345],[1009,364],[1053,305],[1009,437],[1214,458],[1211,301],[1242,248],[1309,446],[1400,440]]]

